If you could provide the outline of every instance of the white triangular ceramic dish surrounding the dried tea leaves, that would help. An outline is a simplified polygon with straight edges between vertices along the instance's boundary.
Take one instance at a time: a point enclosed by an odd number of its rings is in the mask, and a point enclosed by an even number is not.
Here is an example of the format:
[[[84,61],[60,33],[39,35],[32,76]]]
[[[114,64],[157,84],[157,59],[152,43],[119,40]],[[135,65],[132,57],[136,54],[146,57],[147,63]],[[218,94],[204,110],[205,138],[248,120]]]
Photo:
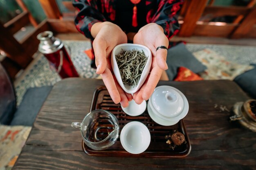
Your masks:
[[[148,61],[144,67],[144,70],[142,71],[141,77],[139,79],[139,83],[137,86],[134,86],[134,87],[129,85],[124,85],[119,72],[119,68],[117,66],[116,57],[115,57],[116,55],[120,54],[122,50],[132,50],[132,49],[139,50],[139,51],[143,50],[144,54],[148,56]],[[129,93],[129,94],[133,94],[137,92],[141,87],[141,85],[143,85],[150,71],[151,62],[152,62],[151,51],[146,46],[142,46],[140,44],[119,44],[115,46],[115,48],[112,50],[111,65],[112,65],[113,72],[115,74],[115,77],[117,78],[117,82],[119,83],[119,85],[124,89],[126,93]]]

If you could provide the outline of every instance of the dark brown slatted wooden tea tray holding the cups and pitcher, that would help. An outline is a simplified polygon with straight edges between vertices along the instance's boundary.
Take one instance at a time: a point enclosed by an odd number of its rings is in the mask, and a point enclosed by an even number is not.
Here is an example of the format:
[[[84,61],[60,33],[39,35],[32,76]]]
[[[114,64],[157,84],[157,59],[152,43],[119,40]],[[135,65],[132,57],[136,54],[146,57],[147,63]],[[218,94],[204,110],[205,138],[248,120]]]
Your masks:
[[[189,136],[186,133],[186,128],[183,120],[180,120],[177,124],[173,126],[161,126],[155,123],[150,116],[148,115],[147,110],[140,116],[128,116],[121,109],[120,104],[115,104],[106,87],[98,87],[92,98],[92,105],[90,111],[96,109],[104,109],[113,113],[118,121],[120,132],[125,124],[131,121],[139,121],[144,123],[151,135],[151,142],[148,149],[141,154],[130,154],[121,145],[120,139],[117,139],[117,142],[113,144],[110,148],[106,150],[92,150],[83,142],[83,150],[87,155],[90,156],[110,156],[110,157],[158,157],[158,158],[182,158],[189,155],[191,151],[191,144],[189,142]],[[183,143],[180,146],[176,146],[175,149],[171,149],[169,144],[166,144],[167,139],[166,135],[172,134],[173,130],[177,130],[184,134],[186,143]],[[119,136],[120,136],[119,132]]]

